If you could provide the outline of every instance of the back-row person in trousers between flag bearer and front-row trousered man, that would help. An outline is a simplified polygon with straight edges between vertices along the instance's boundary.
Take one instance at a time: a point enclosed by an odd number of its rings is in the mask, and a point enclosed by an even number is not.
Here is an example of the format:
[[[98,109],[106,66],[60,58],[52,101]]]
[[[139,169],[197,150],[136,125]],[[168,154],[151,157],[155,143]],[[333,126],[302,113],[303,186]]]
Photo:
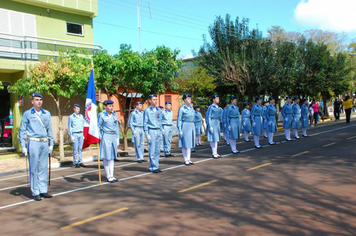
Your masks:
[[[132,131],[132,137],[135,145],[136,161],[142,163],[145,161],[145,133],[143,132],[143,111],[142,102],[136,103],[136,109],[131,112],[129,118],[129,127]]]

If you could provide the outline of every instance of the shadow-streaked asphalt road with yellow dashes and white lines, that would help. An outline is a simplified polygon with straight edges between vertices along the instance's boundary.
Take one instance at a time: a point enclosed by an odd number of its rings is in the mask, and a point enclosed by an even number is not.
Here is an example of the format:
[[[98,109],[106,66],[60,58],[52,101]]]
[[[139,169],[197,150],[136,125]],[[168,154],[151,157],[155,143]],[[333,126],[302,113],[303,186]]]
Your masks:
[[[356,235],[356,124],[328,123],[310,137],[240,154],[207,144],[194,166],[161,159],[160,174],[134,157],[118,183],[98,184],[97,163],[52,172],[52,199],[29,198],[25,174],[0,178],[1,235]],[[105,180],[104,171],[102,179]]]

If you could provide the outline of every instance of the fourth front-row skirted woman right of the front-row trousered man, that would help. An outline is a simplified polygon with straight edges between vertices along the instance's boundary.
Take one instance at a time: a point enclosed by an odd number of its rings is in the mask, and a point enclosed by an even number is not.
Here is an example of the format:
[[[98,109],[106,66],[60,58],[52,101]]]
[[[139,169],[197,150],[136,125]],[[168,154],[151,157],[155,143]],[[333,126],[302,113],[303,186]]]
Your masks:
[[[255,142],[255,148],[262,148],[260,145],[260,135],[262,134],[262,112],[263,108],[261,106],[262,98],[257,96],[255,98],[255,104],[251,109],[251,122],[252,122],[252,134],[253,140]]]

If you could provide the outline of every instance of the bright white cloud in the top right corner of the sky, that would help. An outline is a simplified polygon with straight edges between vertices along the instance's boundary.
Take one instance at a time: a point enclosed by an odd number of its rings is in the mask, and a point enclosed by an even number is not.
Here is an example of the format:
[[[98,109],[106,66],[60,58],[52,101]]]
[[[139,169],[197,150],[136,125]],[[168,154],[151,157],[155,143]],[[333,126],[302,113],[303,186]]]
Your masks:
[[[301,0],[294,17],[307,27],[356,32],[356,0]]]

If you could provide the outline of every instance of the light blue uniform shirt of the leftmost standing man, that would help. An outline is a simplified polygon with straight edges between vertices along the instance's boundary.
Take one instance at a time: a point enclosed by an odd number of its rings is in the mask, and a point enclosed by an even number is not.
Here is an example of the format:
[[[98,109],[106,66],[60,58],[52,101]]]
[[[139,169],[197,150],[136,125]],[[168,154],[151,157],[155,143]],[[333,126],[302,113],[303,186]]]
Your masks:
[[[44,128],[36,116],[41,119]],[[50,146],[53,146],[51,113],[42,108],[39,114],[36,114],[34,108],[25,111],[22,115],[19,130],[19,140],[22,148],[26,147],[26,136],[32,138],[48,138]]]

